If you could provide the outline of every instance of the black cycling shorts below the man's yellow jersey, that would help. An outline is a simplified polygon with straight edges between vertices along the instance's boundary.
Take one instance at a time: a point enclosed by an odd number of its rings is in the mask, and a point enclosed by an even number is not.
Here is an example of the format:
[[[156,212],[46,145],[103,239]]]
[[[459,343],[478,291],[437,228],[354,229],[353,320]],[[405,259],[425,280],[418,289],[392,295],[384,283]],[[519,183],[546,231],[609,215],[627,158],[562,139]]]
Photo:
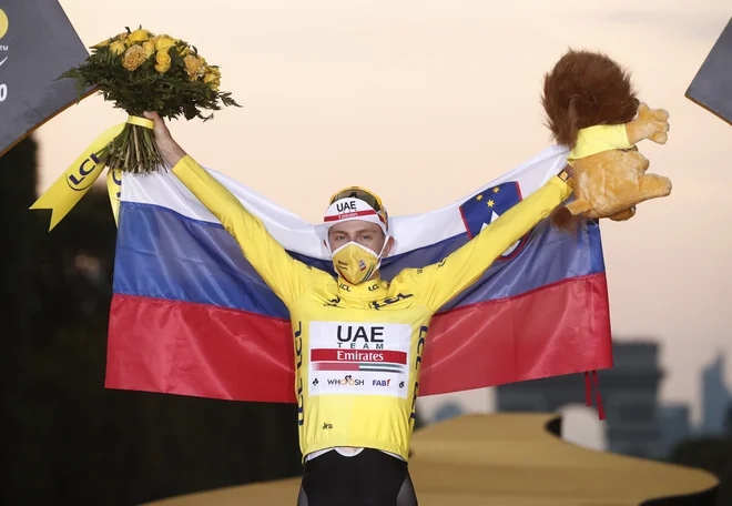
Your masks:
[[[297,506],[417,506],[407,463],[378,449],[305,462]]]

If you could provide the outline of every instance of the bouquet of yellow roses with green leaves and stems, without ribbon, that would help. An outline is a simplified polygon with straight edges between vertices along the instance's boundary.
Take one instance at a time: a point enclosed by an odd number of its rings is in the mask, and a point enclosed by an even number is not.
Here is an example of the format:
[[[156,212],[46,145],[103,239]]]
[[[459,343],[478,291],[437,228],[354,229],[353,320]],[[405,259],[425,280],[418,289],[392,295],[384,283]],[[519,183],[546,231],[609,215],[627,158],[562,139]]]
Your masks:
[[[84,63],[61,74],[75,79],[80,94],[95,85],[104,100],[114,102],[132,118],[143,111],[157,111],[163,118],[184,115],[201,118],[201,109],[218,110],[238,105],[231,93],[218,91],[221,71],[210,65],[194,45],[179,39],[155,36],[142,27],[120,33],[92,45]],[[122,172],[150,172],[162,158],[153,142],[152,131],[144,121],[125,124],[122,132],[106,144],[96,158],[109,169]]]

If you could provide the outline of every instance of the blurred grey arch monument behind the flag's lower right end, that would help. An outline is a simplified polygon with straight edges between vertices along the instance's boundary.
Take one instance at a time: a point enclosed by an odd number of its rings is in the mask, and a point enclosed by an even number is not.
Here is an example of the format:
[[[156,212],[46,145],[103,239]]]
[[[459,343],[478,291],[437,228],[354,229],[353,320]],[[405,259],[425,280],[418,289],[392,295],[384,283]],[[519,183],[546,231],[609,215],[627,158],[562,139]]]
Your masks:
[[[658,352],[652,341],[616,342],[613,367],[598,372],[610,452],[644,458],[665,456],[667,443],[657,409],[663,377]],[[566,404],[583,402],[582,374],[496,387],[497,411],[555,412]]]

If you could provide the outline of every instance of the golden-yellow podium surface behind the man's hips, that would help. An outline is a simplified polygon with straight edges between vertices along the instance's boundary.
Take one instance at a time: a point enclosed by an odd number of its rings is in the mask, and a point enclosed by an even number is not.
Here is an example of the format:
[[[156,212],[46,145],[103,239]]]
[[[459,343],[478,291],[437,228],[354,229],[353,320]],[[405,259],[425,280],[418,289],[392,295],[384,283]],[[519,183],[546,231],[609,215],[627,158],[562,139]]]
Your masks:
[[[465,415],[411,439],[409,473],[420,506],[638,506],[652,499],[712,504],[708,472],[596,452],[548,427],[558,414]],[[299,478],[202,492],[148,506],[294,506]],[[693,498],[692,498],[693,496]]]

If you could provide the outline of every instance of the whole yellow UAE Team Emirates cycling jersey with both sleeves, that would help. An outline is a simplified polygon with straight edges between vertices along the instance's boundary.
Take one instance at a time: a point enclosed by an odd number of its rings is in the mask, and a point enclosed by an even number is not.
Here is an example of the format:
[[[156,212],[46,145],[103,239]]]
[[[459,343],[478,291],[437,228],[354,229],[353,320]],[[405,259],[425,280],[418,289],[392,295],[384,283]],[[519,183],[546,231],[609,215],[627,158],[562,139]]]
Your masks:
[[[294,260],[262,221],[184,156],[173,173],[214,214],[289,310],[303,457],[338,446],[409,455],[433,314],[571,193],[553,176],[449,256],[352,285]]]

